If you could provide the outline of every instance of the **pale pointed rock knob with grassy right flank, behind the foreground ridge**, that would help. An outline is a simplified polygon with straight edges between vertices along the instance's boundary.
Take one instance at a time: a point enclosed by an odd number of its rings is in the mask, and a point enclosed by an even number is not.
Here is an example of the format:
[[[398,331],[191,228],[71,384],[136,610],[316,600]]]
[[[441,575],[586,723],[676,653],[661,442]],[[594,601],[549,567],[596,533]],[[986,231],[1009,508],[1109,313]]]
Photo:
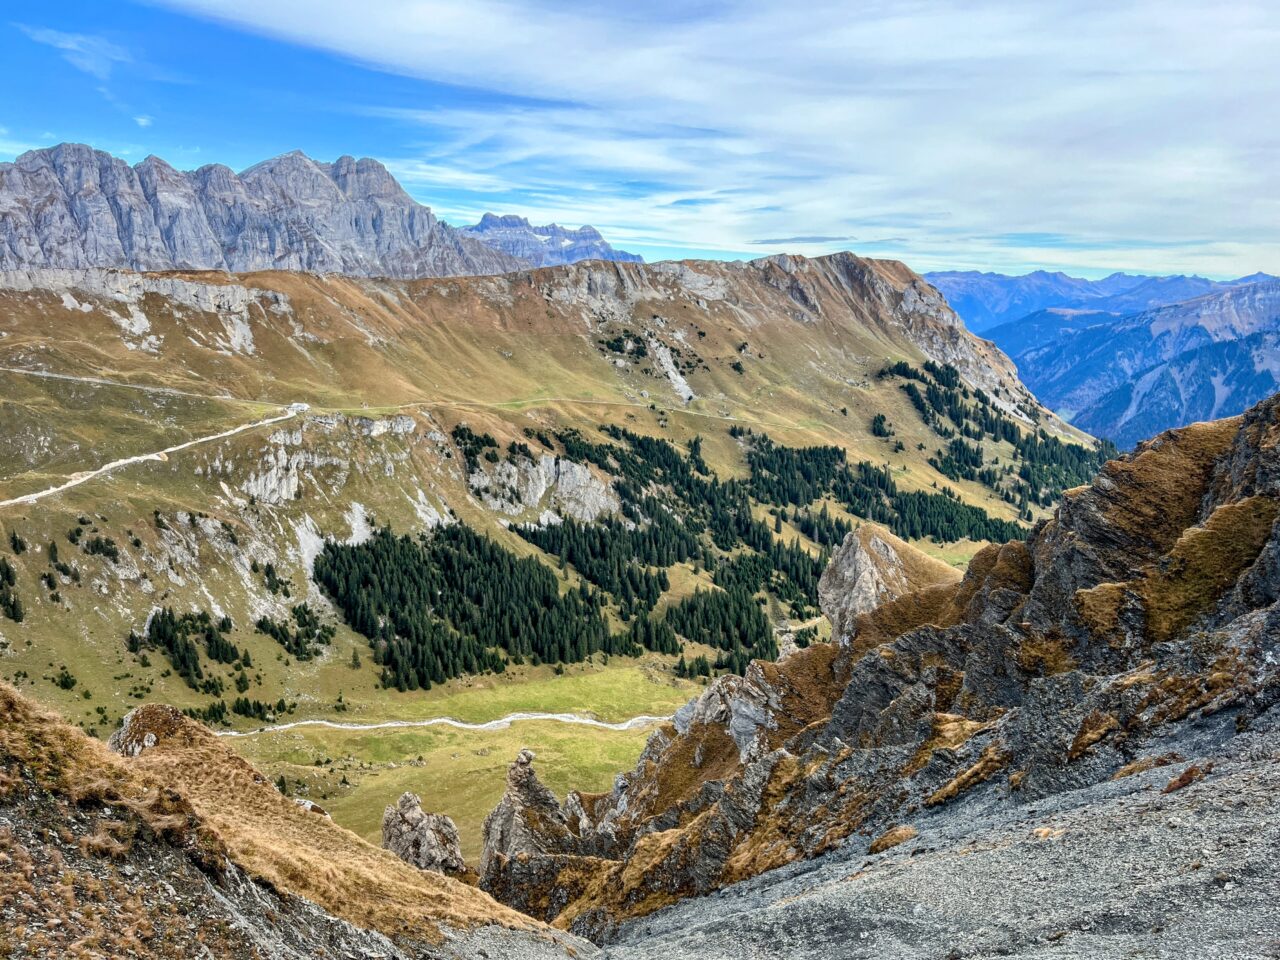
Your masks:
[[[854,621],[884,600],[955,582],[960,571],[936,561],[874,524],[845,536],[818,581],[818,603],[832,636],[847,640]]]

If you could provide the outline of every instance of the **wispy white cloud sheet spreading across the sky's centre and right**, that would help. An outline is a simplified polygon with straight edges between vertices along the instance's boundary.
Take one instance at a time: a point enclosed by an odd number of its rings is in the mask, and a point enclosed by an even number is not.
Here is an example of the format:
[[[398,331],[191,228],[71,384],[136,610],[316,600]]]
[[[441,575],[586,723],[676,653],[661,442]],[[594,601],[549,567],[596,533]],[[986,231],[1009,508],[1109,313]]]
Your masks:
[[[518,191],[521,212],[666,246],[1280,268],[1268,0],[166,1],[481,91],[364,108],[421,131],[397,170],[428,201],[474,191],[460,215]]]

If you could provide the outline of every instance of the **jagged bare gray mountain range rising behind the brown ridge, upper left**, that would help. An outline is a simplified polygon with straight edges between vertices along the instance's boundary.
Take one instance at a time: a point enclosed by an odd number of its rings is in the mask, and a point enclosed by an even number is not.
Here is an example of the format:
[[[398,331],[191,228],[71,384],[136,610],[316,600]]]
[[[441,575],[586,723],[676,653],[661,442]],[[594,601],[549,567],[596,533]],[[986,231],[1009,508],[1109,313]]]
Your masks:
[[[0,164],[0,269],[495,274],[527,264],[435,219],[376,160],[294,151],[182,173],[79,143]]]

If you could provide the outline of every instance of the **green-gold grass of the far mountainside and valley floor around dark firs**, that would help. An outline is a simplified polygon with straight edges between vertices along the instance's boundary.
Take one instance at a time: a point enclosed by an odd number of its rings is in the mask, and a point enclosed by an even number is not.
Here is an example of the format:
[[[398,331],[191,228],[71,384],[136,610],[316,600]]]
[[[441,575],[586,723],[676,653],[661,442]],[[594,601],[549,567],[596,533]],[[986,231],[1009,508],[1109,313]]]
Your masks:
[[[253,316],[251,356],[210,349],[210,330],[216,334],[221,329],[216,317],[189,308],[169,311],[154,297],[146,310],[152,330],[163,338],[159,355],[122,343],[108,316],[108,310],[114,310],[109,305],[90,314],[69,312],[56,297],[40,300],[38,294],[5,303],[3,324],[8,335],[0,366],[35,361],[68,375],[202,396],[0,374],[5,388],[0,443],[8,444],[9,452],[8,466],[0,470],[0,498],[59,483],[108,460],[216,433],[293,401],[312,403],[314,413],[407,412],[424,431],[447,433],[465,421],[493,433],[503,444],[524,439],[526,426],[577,426],[590,431],[599,424],[618,424],[676,443],[701,435],[704,454],[722,476],[744,472],[741,449],[727,435],[730,425],[741,424],[765,430],[781,443],[837,443],[851,460],[888,462],[904,489],[946,483],[925,462],[938,445],[937,438],[896,385],[874,376],[887,358],[918,362],[919,352],[870,320],[863,325],[781,319],[790,316],[794,305],[781,297],[768,300],[774,297],[768,289],[748,291],[732,306],[719,301],[699,306],[678,296],[646,294],[632,305],[630,320],[607,328],[654,329],[699,358],[701,366],[689,374],[698,399],[684,407],[664,378],[652,370],[645,372],[652,364],[616,366],[614,357],[596,344],[596,334],[589,333],[586,324],[591,321],[584,323],[585,308],[549,303],[522,289],[508,306],[494,308],[485,291],[497,282],[380,287],[289,274],[256,275],[248,282],[287,294],[292,310],[288,315],[261,311],[261,317]],[[663,317],[660,326],[646,328],[649,317],[658,316]],[[78,335],[47,335],[50,329],[64,325],[74,325]],[[297,335],[300,328],[310,339]],[[740,349],[742,343],[749,344],[746,349]],[[735,361],[744,365],[741,374],[730,366]],[[868,425],[876,413],[884,413],[893,424],[893,439],[901,439],[905,451],[892,453],[893,440],[870,436]],[[335,643],[321,659],[289,663],[273,641],[250,627],[262,612],[283,617],[287,604],[265,594],[260,579],[250,575],[244,554],[253,550],[255,556],[273,557],[296,588],[303,585],[300,525],[310,522],[319,532],[346,536],[351,531],[349,506],[360,502],[379,521],[415,529],[420,520],[411,500],[425,490],[436,506],[448,503],[462,520],[509,548],[536,553],[502,530],[494,516],[468,497],[454,465],[429,456],[421,444],[399,438],[332,440],[314,433],[308,431],[303,448],[342,458],[347,466],[310,467],[297,502],[246,507],[224,492],[224,484],[237,489],[275,449],[266,442],[269,430],[262,430],[214,448],[184,452],[165,463],[136,465],[35,507],[6,511],[0,516],[5,536],[17,529],[33,545],[56,540],[64,559],[73,558],[84,576],[81,586],[61,585],[63,603],[54,604],[47,590],[36,586],[47,571],[44,554],[32,550],[13,558],[28,617],[23,625],[0,621],[0,645],[8,645],[0,654],[0,676],[26,675],[24,690],[100,735],[140,703],[129,695],[131,689],[147,700],[179,705],[207,701],[192,696],[177,677],[164,677],[163,657],[152,654],[147,668],[124,650],[124,636],[141,627],[152,605],[172,604],[230,613],[236,621],[232,640],[252,653],[253,673],[261,675],[261,684],[247,695],[296,700],[298,707],[289,719],[493,719],[517,710],[591,712],[620,719],[636,713],[669,713],[696,690],[675,681],[669,659],[662,663],[663,658],[650,657],[640,667],[616,659],[608,667],[572,667],[562,677],[547,668],[513,669],[502,680],[453,681],[429,692],[401,695],[378,686],[364,639],[346,627],[339,627]],[[924,443],[925,449],[918,451],[918,443]],[[998,448],[992,452],[1002,458],[1009,453]],[[233,463],[234,468],[211,476],[210,467],[219,462]],[[1012,509],[984,488],[951,485],[995,516],[1012,516]],[[161,531],[152,521],[156,509],[174,527],[180,527],[174,518],[186,517],[188,511],[205,512],[211,521],[209,529]],[[77,554],[65,532],[81,515],[90,516],[102,535],[115,539],[147,579],[122,577],[120,570],[106,561]],[[216,521],[236,531],[239,547],[228,541]],[[128,545],[131,531],[141,539],[141,548]],[[785,531],[788,539],[794,535],[794,530]],[[952,563],[963,563],[973,549],[964,544],[922,545]],[[576,582],[576,576],[570,572],[564,581]],[[677,568],[663,603],[705,582],[705,575]],[[358,671],[349,666],[353,649],[364,657]],[[73,690],[51,682],[63,664],[77,677]],[[92,699],[86,699],[86,692]],[[339,694],[347,705],[340,713]],[[237,724],[252,726],[241,718]],[[305,763],[314,760],[303,756],[312,749],[311,741],[316,754],[337,758],[349,753],[357,762],[401,763],[419,753],[434,755],[438,762],[428,765],[425,777],[401,771],[393,776],[388,769],[370,771],[367,776],[348,773],[355,788],[344,790],[332,803],[340,822],[349,817],[352,826],[367,833],[383,803],[394,800],[399,788],[439,796],[445,809],[458,810],[472,849],[479,815],[488,809],[494,790],[500,788],[502,769],[518,746],[543,751],[540,769],[553,785],[604,786],[612,771],[631,764],[643,742],[637,732],[550,724],[483,736],[456,735],[470,744],[493,741],[489,758],[481,762],[479,754],[452,749],[448,735],[439,730],[406,735],[407,753],[401,759],[385,754],[390,748],[376,746],[381,737],[337,735],[343,742],[329,744],[330,732],[297,736],[302,746],[292,733],[282,742],[264,736],[237,745],[256,751],[273,776],[297,765],[300,756]],[[291,753],[297,750],[302,754]],[[337,790],[335,785],[314,786],[317,791]],[[371,803],[365,800],[366,790]],[[454,796],[462,801],[456,803],[451,799]],[[479,810],[475,804],[480,804]]]

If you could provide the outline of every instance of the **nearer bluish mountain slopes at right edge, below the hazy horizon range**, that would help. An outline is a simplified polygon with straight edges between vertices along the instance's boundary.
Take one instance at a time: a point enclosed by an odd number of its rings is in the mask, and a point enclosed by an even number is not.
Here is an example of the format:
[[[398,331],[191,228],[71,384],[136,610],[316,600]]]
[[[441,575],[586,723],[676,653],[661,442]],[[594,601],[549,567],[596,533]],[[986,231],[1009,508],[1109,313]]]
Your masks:
[[[987,335],[1042,403],[1132,447],[1280,389],[1280,280],[1222,284],[1128,315],[1055,307]]]

